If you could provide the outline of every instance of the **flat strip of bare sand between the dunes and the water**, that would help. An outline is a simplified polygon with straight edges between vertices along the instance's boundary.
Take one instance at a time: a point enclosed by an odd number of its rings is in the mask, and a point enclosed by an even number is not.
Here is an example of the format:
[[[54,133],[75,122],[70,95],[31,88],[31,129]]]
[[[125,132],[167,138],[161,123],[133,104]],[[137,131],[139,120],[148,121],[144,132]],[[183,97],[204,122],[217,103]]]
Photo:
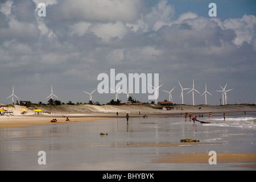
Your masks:
[[[148,117],[184,117],[184,113],[186,111],[154,111],[154,112],[146,112],[142,111],[141,114],[138,111],[120,111],[118,116],[114,112],[109,113],[99,113],[99,112],[91,112],[90,114],[44,114],[44,115],[35,115],[35,114],[27,114],[27,115],[10,115],[10,116],[0,116],[0,129],[9,128],[9,127],[26,127],[33,125],[49,125],[51,123],[51,119],[57,119],[56,123],[71,123],[71,122],[92,122],[92,121],[100,121],[106,119],[125,119],[126,113],[129,114],[130,117],[143,117],[143,115],[147,115]],[[188,112],[188,111],[187,111]],[[193,115],[204,114],[205,118],[208,118],[209,111],[198,111],[191,110]],[[241,110],[213,110],[212,113],[214,116],[226,114],[226,117],[239,114],[244,115]],[[255,114],[255,111],[247,111],[247,115]],[[68,117],[69,121],[65,121],[65,118]]]

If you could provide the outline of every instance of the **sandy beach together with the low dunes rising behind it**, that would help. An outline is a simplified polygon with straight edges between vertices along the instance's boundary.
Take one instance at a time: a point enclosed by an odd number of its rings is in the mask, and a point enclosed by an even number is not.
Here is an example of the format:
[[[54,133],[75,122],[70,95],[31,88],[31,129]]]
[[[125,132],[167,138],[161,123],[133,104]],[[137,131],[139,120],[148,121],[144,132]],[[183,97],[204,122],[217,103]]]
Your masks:
[[[226,117],[232,113],[247,114],[256,111],[255,105],[174,105],[172,110],[159,110],[144,105],[61,105],[61,106],[49,106],[49,105],[32,105],[30,107],[14,105],[5,107],[7,111],[11,111],[13,114],[5,114],[0,116],[0,128],[5,127],[23,127],[30,125],[48,125],[51,124],[51,119],[57,119],[57,123],[67,123],[65,118],[69,118],[69,122],[80,121],[96,121],[104,119],[116,119],[125,118],[126,113],[130,117],[171,117],[174,115],[183,116],[185,112],[191,112],[194,115],[204,114],[208,116],[209,112],[213,114],[226,113]],[[199,109],[200,108],[200,109]],[[26,109],[26,114],[22,114],[22,109]],[[37,113],[33,110],[41,109],[42,112]],[[118,116],[116,112],[118,111]],[[139,112],[141,114],[139,114]],[[39,115],[38,115],[39,114]]]

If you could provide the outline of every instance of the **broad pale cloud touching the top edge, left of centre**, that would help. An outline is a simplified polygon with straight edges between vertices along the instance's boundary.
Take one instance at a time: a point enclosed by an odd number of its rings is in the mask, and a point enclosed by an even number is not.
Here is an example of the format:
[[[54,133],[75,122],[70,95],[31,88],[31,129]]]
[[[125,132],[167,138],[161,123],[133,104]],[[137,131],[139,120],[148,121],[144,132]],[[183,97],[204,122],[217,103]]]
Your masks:
[[[133,22],[140,8],[138,0],[63,0],[55,10],[60,19]]]

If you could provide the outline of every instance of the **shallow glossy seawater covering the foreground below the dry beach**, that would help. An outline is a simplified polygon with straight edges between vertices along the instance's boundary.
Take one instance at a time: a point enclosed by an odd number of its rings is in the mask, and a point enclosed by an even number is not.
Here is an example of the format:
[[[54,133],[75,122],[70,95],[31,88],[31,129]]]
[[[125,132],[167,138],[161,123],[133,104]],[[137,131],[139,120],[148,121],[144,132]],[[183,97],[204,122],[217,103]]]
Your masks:
[[[255,113],[199,120],[210,123],[176,116],[0,129],[0,170],[255,170],[237,167],[248,163],[156,162],[170,154],[256,153]],[[184,138],[200,145],[184,145]],[[39,164],[39,151],[46,164]]]

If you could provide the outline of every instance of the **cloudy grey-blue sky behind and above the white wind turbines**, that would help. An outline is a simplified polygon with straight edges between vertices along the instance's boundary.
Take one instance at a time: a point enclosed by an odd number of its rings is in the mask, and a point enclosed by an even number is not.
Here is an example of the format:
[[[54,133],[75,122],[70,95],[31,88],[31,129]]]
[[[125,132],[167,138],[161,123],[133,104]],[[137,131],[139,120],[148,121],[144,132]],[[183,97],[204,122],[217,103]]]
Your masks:
[[[209,16],[216,4],[217,16]],[[39,16],[45,3],[46,16]],[[159,74],[158,101],[181,104],[195,81],[195,105],[220,105],[216,90],[228,83],[228,104],[256,101],[256,1],[8,0],[0,1],[0,103],[89,102],[98,75]],[[147,80],[148,81],[148,80]],[[154,79],[152,79],[152,84]],[[178,82],[179,81],[179,82]],[[115,84],[119,81],[115,80]],[[142,87],[141,83],[141,87]],[[110,84],[109,84],[110,87]],[[142,90],[142,88],[141,88]],[[98,91],[98,90],[97,90]],[[106,104],[114,93],[92,94]],[[184,90],[184,104],[192,92]],[[119,93],[126,102],[126,93]],[[130,93],[142,101],[149,93]],[[55,97],[53,97],[55,98]],[[14,98],[14,102],[18,100]],[[19,101],[19,100],[18,100]]]

